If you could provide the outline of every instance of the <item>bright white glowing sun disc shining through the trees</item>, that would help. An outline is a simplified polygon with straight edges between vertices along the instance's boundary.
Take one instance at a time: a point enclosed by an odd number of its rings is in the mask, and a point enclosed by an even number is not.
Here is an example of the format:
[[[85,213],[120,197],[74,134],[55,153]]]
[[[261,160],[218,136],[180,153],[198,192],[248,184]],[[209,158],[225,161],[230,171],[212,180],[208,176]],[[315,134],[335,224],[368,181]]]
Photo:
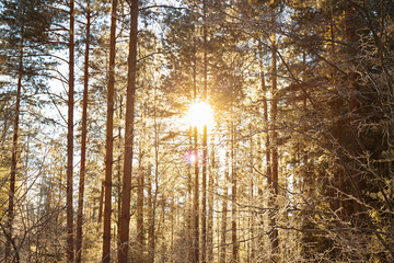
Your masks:
[[[196,102],[190,105],[186,115],[187,123],[202,129],[205,125],[211,127],[213,124],[213,113],[210,105],[206,102]]]

